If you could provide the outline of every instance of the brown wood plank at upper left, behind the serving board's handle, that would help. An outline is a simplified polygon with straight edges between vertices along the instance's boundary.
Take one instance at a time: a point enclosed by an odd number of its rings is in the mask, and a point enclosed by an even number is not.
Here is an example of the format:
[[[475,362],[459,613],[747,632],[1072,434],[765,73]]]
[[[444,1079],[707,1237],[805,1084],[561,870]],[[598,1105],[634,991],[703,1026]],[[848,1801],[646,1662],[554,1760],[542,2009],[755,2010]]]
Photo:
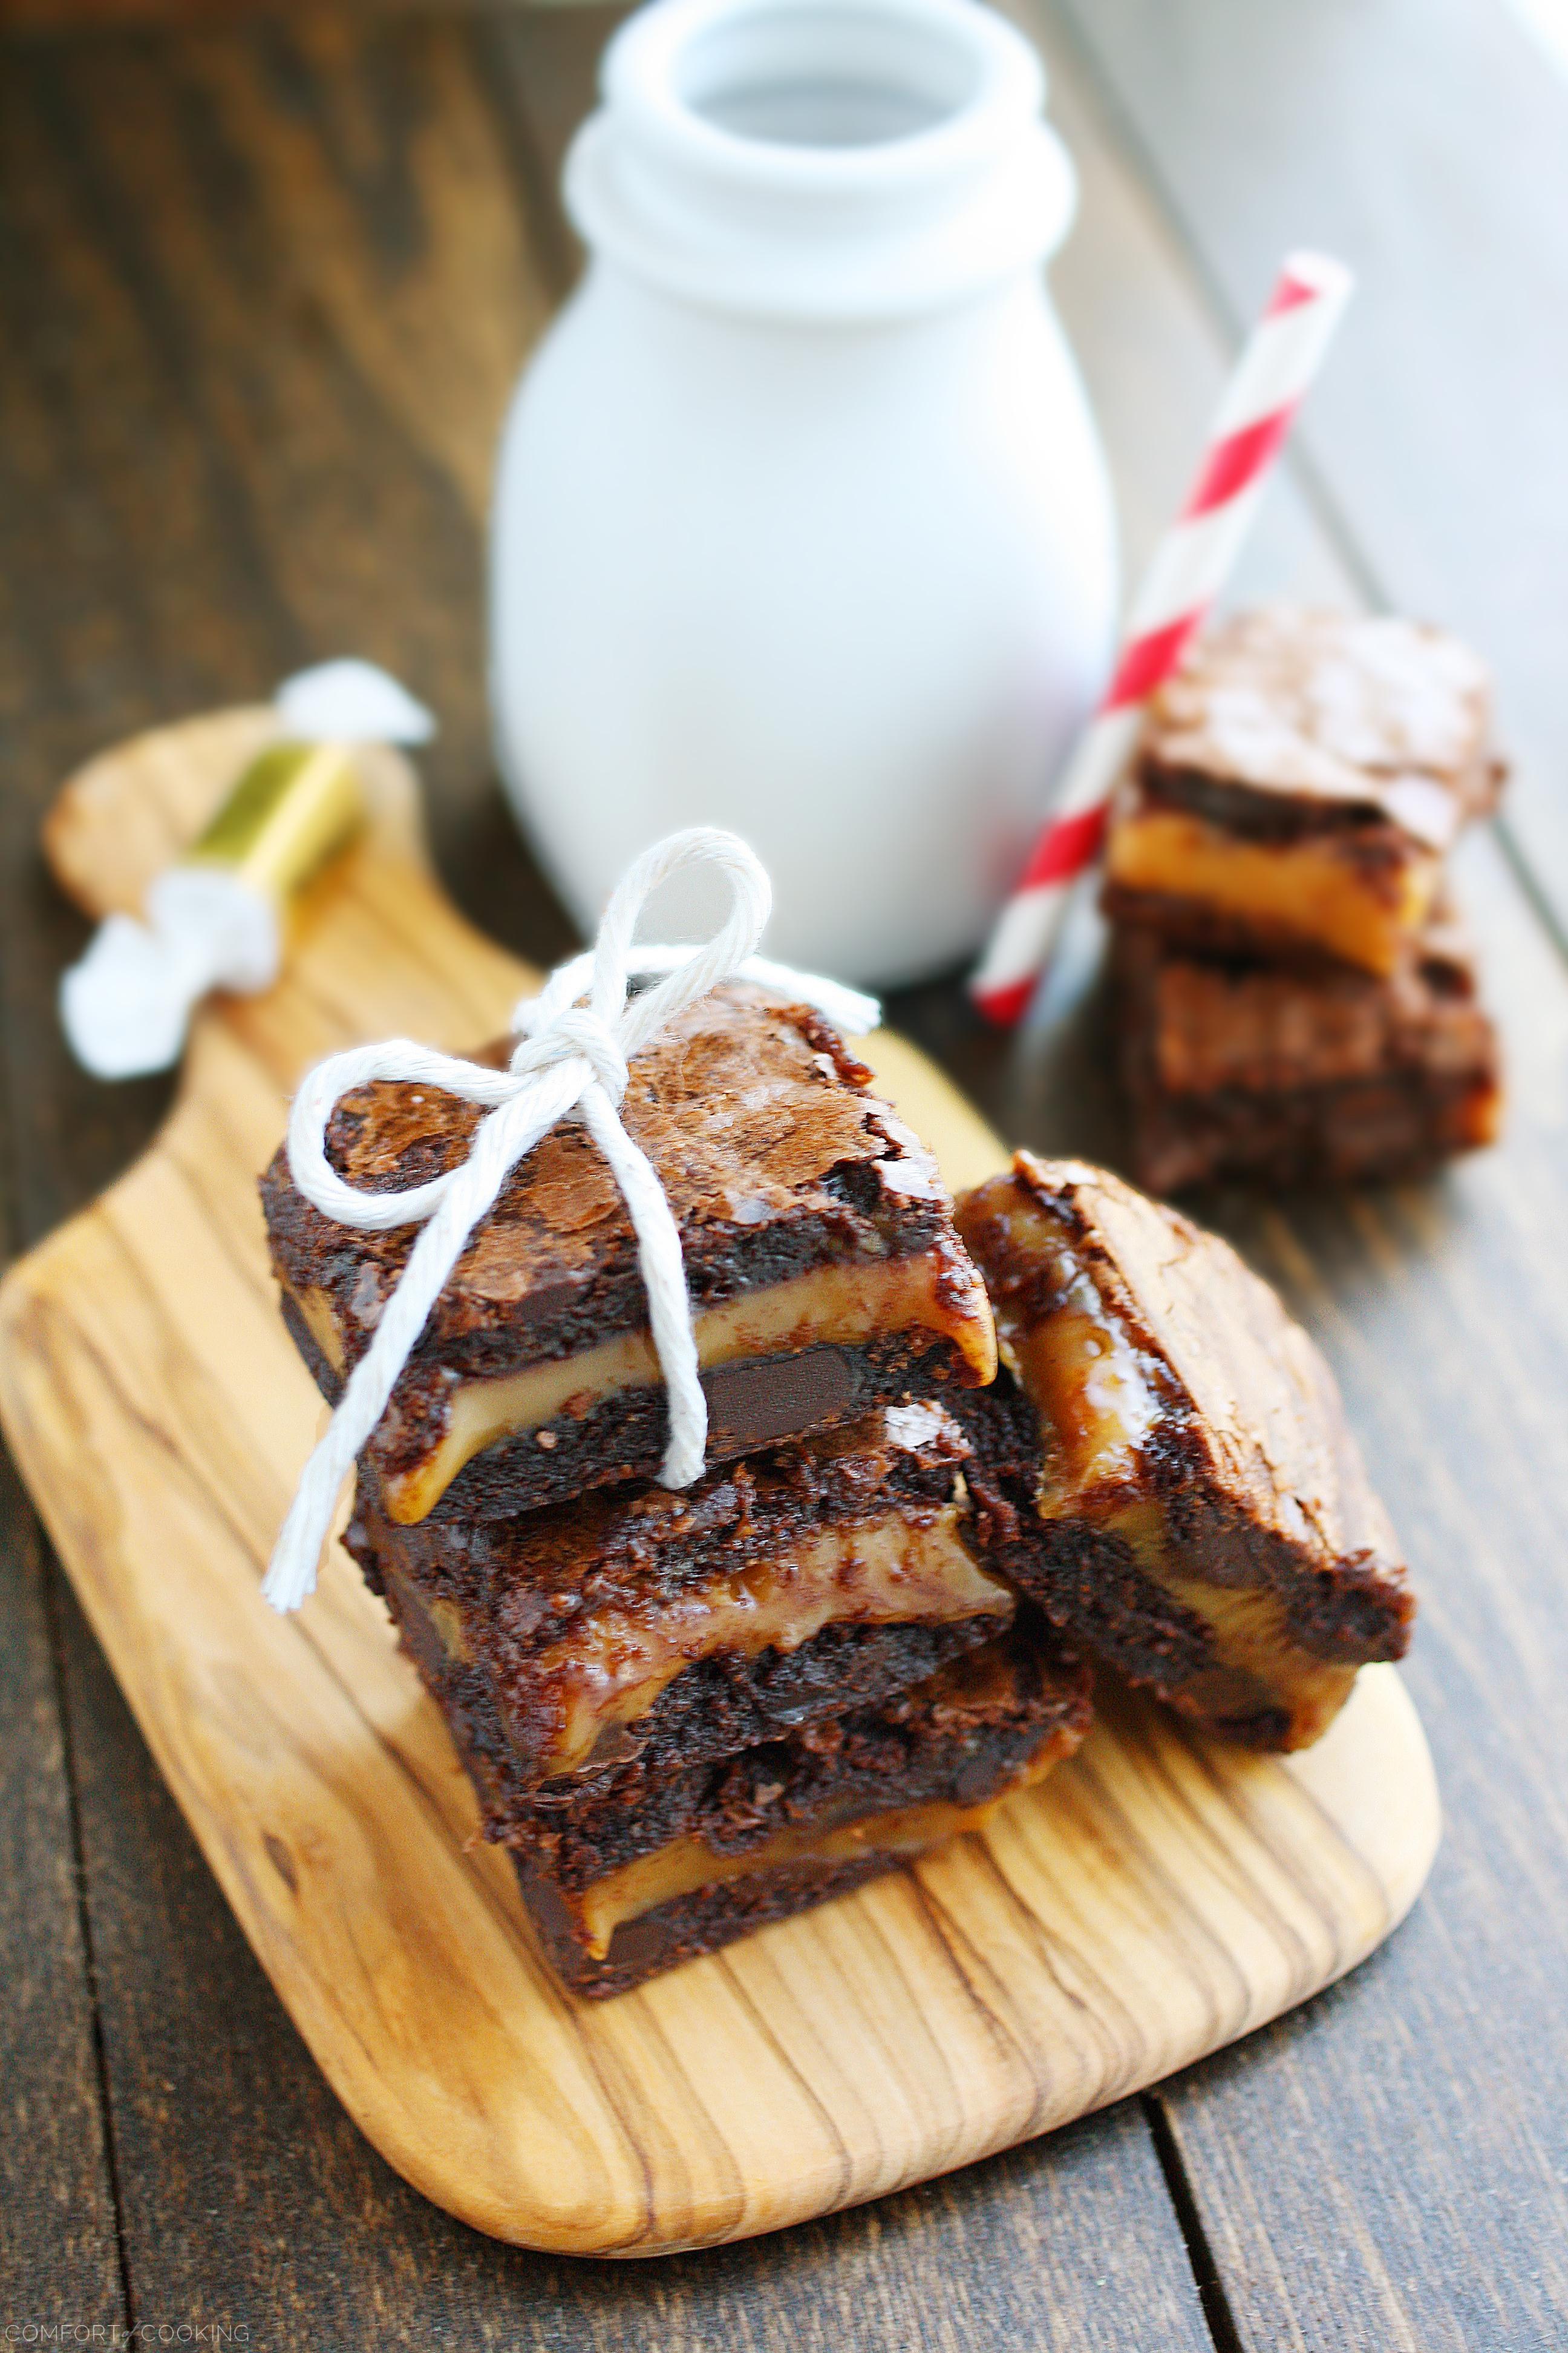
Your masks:
[[[38,861],[99,744],[388,664],[440,711],[437,866],[489,932],[569,932],[496,793],[480,522],[550,308],[468,21],[313,7],[14,40],[0,71],[0,991],[24,1240],[167,1108],[63,1049],[82,925]],[[113,388],[113,395],[108,393]]]

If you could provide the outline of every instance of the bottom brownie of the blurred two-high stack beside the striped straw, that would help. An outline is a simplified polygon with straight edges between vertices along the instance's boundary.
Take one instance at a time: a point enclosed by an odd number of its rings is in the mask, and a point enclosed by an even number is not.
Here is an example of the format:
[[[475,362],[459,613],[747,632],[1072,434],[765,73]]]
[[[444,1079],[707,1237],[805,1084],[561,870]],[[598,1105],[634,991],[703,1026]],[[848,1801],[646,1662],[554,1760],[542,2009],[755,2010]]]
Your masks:
[[[1497,1035],[1453,920],[1389,979],[1194,958],[1143,925],[1112,955],[1131,1162],[1154,1193],[1406,1176],[1497,1134]]]

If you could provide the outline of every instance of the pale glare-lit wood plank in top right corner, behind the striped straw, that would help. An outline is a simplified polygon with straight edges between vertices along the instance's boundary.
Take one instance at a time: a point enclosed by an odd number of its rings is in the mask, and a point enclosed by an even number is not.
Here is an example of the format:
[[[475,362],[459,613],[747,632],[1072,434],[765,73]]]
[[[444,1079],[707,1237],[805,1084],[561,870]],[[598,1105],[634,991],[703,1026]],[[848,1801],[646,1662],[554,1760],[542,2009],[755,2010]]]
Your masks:
[[[1509,831],[1568,936],[1568,80],[1497,0],[1058,0],[1232,332],[1279,254],[1361,292],[1302,416],[1382,602],[1495,664]]]

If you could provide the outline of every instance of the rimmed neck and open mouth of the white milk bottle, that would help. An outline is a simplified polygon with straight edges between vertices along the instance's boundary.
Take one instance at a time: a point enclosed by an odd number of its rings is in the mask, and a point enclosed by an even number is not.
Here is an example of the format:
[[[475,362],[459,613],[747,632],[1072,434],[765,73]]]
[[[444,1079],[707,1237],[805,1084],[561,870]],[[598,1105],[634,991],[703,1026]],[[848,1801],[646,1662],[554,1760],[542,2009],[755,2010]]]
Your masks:
[[[689,304],[851,322],[964,301],[1077,198],[1044,73],[976,0],[658,0],[611,42],[567,205]]]

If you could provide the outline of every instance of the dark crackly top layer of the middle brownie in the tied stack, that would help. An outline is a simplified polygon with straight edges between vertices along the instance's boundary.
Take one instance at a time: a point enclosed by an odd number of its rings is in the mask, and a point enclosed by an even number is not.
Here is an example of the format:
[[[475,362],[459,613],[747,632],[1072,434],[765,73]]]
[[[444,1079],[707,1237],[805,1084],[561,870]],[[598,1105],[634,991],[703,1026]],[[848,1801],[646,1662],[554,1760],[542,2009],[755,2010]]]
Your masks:
[[[677,1494],[618,1487],[512,1520],[388,1527],[376,1515],[374,1525],[421,1588],[494,1607],[512,1640],[548,1642],[578,1607],[651,1607],[823,1527],[891,1511],[933,1513],[959,1492],[969,1442],[945,1407],[886,1405],[849,1428],[710,1471]]]

